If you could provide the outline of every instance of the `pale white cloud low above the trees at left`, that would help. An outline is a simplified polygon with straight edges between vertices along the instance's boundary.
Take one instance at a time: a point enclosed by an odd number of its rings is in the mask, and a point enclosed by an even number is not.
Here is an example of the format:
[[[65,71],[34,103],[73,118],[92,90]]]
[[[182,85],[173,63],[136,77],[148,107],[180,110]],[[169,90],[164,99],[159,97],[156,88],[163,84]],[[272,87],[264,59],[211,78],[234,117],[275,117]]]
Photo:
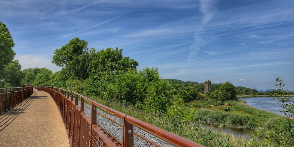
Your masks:
[[[55,73],[56,71],[60,71],[61,67],[56,66],[51,62],[48,57],[38,54],[38,55],[24,55],[24,56],[18,56],[16,55],[15,60],[19,61],[19,64],[21,64],[21,70],[29,69],[29,68],[46,68],[52,71],[52,73]]]

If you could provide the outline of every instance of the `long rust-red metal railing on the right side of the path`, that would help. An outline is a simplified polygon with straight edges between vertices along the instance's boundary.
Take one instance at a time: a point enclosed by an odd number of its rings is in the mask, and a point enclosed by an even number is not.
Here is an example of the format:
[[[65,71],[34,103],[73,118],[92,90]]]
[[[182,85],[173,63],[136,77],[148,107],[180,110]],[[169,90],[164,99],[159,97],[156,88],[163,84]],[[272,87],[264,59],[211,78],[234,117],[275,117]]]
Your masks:
[[[85,96],[82,96],[73,91],[64,90],[55,87],[40,87],[39,91],[45,91],[51,95],[59,108],[61,116],[64,120],[70,145],[73,146],[134,146],[134,132],[133,126],[141,128],[142,130],[161,138],[162,140],[171,143],[174,146],[183,147],[198,147],[202,146],[198,143],[190,141],[186,138],[153,126],[149,123],[141,121],[130,115],[109,108],[96,101],[93,101]],[[81,103],[78,106],[78,100]],[[91,118],[84,113],[85,102],[91,103]],[[121,118],[123,120],[123,139],[122,142],[114,138],[110,133],[105,131],[99,124],[97,124],[97,107],[108,113]]]

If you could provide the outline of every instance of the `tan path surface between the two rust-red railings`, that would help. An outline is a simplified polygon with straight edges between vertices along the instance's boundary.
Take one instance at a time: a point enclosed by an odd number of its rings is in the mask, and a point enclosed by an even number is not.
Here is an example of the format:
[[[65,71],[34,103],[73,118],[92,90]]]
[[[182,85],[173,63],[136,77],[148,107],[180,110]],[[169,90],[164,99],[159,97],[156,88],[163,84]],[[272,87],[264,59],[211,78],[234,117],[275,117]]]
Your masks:
[[[44,91],[0,116],[0,146],[70,146],[59,110]]]

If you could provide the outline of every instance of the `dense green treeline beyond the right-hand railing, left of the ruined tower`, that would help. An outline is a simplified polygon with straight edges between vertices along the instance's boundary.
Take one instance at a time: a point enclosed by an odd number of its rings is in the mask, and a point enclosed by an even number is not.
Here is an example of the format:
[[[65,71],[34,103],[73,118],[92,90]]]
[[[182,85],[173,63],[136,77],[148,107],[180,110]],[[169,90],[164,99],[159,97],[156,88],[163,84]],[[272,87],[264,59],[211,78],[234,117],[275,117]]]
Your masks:
[[[25,69],[23,83],[54,86],[108,101],[122,101],[145,111],[167,111],[174,90],[160,78],[157,68],[137,71],[138,62],[122,55],[122,49],[87,47],[87,41],[72,39],[56,49],[52,63],[61,71]]]

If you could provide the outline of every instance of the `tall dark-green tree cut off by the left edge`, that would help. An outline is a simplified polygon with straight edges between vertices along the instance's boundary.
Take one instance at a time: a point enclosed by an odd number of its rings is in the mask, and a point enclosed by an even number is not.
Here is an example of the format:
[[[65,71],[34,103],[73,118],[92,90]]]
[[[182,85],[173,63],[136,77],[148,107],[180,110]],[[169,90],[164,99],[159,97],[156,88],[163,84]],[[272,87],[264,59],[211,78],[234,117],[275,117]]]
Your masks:
[[[0,21],[0,74],[3,74],[4,67],[14,59],[16,55],[12,50],[14,41],[6,25]]]

